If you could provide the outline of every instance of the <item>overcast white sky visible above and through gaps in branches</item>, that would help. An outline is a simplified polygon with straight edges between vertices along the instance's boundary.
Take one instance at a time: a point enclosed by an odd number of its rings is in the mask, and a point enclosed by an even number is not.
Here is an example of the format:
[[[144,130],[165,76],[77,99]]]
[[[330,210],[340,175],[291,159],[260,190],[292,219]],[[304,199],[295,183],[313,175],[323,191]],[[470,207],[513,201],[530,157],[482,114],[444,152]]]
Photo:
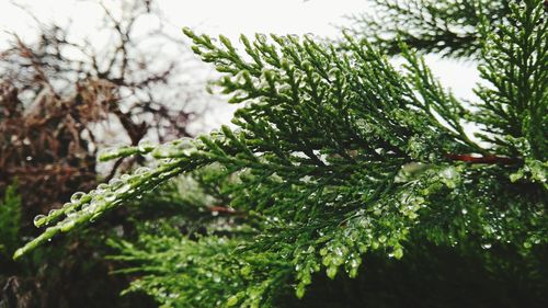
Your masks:
[[[113,0],[110,0],[113,1]],[[0,48],[7,44],[4,31],[13,31],[31,39],[34,21],[15,2],[26,5],[42,21],[72,20],[75,33],[93,37],[99,32],[101,9],[92,1],[77,0],[0,0]],[[106,1],[109,3],[109,0]],[[345,15],[367,9],[366,0],[159,0],[172,35],[182,35],[181,27],[224,34],[237,39],[240,33],[305,34],[335,37],[338,26],[349,24]],[[478,72],[471,62],[426,57],[434,73],[460,98],[471,98]],[[218,116],[218,114],[217,114]],[[228,116],[221,115],[227,122]]]

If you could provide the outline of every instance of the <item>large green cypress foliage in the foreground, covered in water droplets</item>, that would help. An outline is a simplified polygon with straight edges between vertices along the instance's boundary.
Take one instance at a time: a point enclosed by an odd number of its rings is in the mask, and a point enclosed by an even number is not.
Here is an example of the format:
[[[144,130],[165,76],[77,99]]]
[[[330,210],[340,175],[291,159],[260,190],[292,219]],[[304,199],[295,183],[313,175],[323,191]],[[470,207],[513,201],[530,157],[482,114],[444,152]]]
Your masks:
[[[493,250],[511,251],[517,256],[502,262],[527,262],[522,274],[539,305],[548,287],[539,262],[548,241],[548,23],[541,1],[489,2],[501,13],[482,1],[421,7],[478,32],[472,43],[445,44],[426,30],[416,35],[427,44],[419,44],[398,30],[401,69],[378,37],[241,36],[239,52],[226,37],[185,28],[194,53],[224,73],[218,89],[242,104],[238,128],[104,152],[148,155],[157,167],[37,217],[48,227],[14,256],[145,195],[178,204],[178,215],[142,224],[136,242],[112,241],[121,251],[113,258],[142,275],[129,290],[162,307],[282,307],[322,272],[355,277],[368,256],[409,262],[410,252],[420,262],[416,252],[432,247],[473,251],[484,266]],[[460,12],[468,4],[473,11]],[[486,82],[473,109],[435,80],[414,47],[477,53]],[[476,138],[465,123],[478,127]],[[165,186],[175,176],[183,180]],[[181,232],[182,225],[193,228]]]

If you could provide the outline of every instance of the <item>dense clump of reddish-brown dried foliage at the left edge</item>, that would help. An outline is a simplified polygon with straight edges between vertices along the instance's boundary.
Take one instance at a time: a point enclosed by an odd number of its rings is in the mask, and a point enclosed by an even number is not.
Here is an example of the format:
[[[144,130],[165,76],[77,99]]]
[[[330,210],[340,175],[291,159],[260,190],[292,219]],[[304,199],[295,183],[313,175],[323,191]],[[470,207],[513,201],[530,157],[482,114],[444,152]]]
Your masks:
[[[16,88],[0,84],[0,190],[18,179],[26,218],[94,184],[90,126],[107,116],[115,102],[111,91],[110,84],[88,82],[61,99],[45,87],[25,107]]]

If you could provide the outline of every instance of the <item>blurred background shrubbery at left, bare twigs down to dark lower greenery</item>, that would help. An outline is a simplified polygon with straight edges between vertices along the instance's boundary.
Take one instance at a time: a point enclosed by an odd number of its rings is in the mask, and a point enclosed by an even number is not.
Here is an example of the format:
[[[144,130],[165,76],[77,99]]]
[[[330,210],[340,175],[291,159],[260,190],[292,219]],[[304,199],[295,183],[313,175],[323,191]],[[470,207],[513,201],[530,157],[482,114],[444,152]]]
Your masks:
[[[142,163],[137,157],[99,168],[98,150],[190,136],[187,125],[199,117],[199,91],[182,78],[185,52],[169,53],[181,50],[181,39],[169,37],[156,2],[95,3],[104,46],[71,41],[70,24],[44,23],[22,7],[36,22],[36,39],[13,33],[0,50],[1,307],[147,306],[121,299],[127,278],[110,276],[111,262],[99,258],[112,228],[130,233],[124,210],[85,239],[76,235],[23,264],[10,258],[14,243],[36,235],[33,217]]]

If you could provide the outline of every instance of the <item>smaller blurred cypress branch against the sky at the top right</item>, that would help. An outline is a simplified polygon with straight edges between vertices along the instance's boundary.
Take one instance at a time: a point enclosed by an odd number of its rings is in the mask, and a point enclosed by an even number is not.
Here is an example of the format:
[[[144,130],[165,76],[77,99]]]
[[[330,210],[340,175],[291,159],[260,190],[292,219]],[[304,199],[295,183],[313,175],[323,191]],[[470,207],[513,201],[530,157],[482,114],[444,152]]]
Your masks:
[[[443,56],[478,57],[482,47],[481,26],[496,31],[507,21],[509,0],[373,0],[374,13],[351,16],[355,35],[388,54],[400,52],[398,41],[424,53]]]

